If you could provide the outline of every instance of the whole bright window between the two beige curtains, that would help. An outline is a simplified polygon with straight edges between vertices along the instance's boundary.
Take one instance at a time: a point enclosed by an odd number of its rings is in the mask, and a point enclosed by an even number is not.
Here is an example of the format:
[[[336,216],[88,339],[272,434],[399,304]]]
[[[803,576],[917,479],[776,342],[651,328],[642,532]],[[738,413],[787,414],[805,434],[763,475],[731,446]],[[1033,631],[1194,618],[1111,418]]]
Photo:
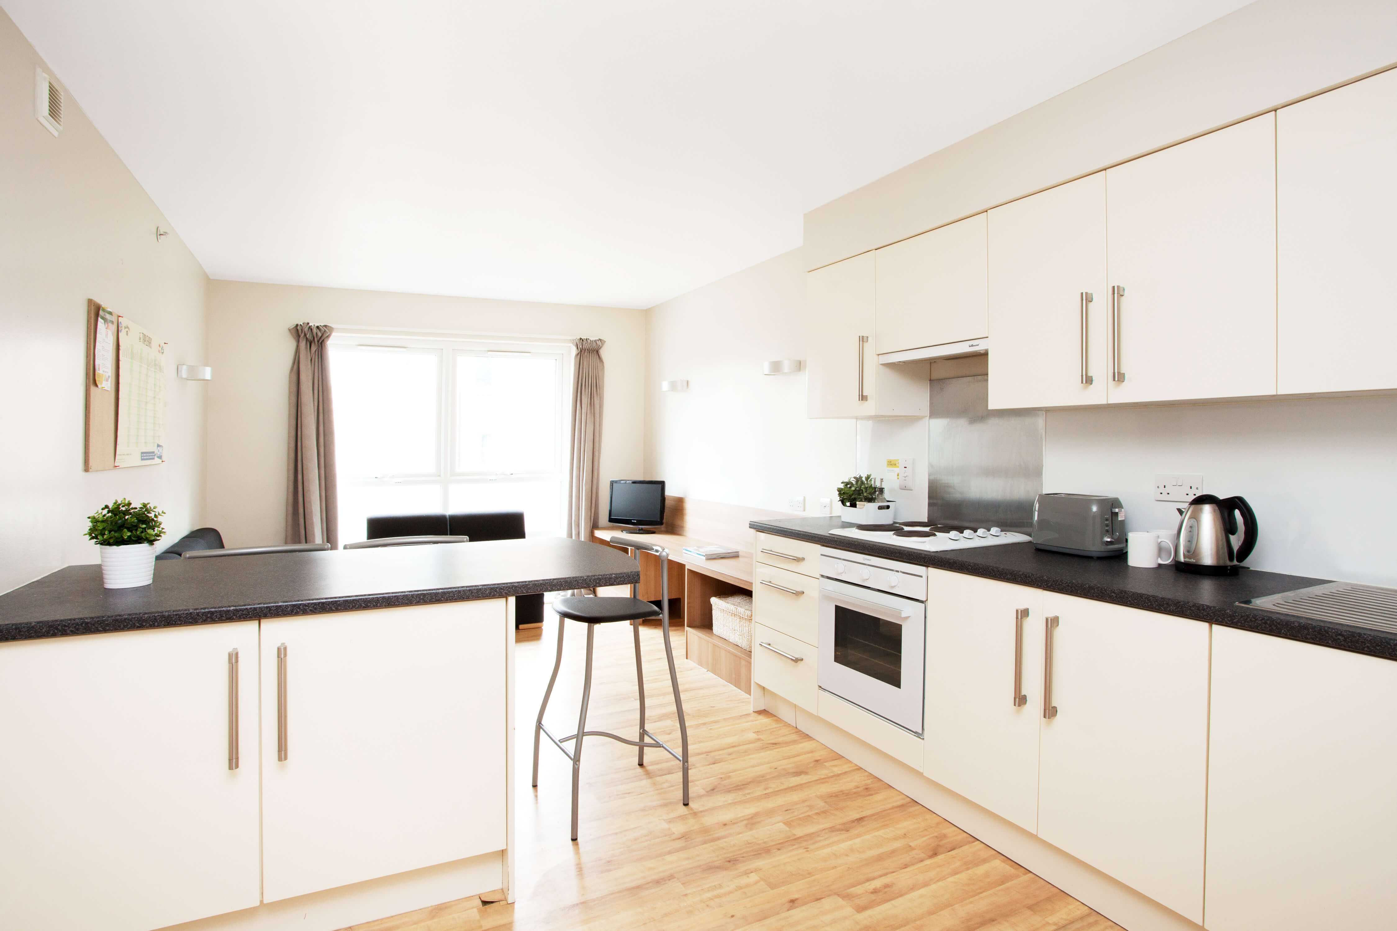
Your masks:
[[[570,363],[560,345],[334,334],[339,540],[374,514],[468,510],[560,535]]]

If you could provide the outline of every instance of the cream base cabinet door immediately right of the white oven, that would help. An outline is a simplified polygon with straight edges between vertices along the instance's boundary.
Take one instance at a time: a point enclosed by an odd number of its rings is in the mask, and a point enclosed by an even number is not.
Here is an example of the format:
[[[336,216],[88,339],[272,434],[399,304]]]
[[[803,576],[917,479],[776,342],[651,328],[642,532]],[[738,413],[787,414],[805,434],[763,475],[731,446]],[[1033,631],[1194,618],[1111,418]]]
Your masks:
[[[1034,832],[1041,598],[954,572],[928,577],[926,776]]]

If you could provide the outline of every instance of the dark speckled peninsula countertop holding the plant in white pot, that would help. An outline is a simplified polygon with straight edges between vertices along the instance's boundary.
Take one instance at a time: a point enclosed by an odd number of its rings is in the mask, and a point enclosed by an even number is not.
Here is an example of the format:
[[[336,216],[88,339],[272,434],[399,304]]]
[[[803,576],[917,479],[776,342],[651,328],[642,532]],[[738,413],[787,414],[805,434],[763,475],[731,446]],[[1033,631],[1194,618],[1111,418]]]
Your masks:
[[[155,582],[103,589],[67,566],[0,596],[0,642],[630,584],[636,563],[580,540],[499,540],[155,562]]]

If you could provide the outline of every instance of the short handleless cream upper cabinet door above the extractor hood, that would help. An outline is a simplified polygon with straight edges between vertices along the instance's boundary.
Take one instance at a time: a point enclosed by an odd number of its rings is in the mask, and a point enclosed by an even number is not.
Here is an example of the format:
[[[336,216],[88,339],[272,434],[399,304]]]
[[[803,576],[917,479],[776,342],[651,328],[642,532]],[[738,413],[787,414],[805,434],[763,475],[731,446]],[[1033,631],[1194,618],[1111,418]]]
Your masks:
[[[988,333],[985,214],[875,252],[877,352]]]

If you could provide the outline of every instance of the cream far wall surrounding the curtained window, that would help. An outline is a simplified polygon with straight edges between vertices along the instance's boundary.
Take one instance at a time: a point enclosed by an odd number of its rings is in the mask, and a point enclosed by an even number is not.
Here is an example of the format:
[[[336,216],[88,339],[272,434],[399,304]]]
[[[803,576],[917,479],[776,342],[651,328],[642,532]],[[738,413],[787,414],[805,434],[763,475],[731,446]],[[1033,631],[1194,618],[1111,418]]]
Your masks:
[[[208,344],[208,523],[229,547],[282,542],[286,380],[295,323],[499,337],[602,337],[602,486],[644,468],[645,312],[383,291],[214,281]],[[605,505],[604,505],[605,506]]]

